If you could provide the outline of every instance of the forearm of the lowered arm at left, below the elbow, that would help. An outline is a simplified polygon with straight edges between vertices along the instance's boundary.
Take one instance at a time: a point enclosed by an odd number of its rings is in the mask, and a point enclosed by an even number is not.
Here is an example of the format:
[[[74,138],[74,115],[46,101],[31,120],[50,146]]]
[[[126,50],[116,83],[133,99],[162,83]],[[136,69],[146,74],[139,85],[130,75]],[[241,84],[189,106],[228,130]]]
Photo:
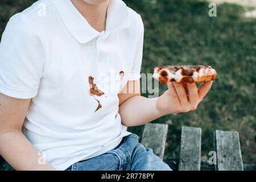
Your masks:
[[[16,170],[52,171],[48,163],[40,164],[38,151],[21,131],[0,134],[0,155]]]

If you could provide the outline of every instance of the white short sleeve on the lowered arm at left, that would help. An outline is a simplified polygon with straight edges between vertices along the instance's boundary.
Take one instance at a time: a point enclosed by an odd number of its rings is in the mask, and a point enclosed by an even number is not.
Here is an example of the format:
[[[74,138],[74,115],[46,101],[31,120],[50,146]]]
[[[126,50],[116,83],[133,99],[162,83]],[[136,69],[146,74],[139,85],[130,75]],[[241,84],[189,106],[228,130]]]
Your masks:
[[[0,43],[0,93],[33,98],[38,93],[44,67],[44,43],[38,24],[14,15]]]

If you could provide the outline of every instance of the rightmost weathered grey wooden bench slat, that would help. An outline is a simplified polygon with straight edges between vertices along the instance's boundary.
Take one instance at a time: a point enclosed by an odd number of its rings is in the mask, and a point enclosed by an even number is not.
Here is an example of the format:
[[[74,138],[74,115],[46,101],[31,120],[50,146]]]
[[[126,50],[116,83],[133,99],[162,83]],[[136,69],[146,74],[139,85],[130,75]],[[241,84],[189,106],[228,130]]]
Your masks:
[[[214,146],[217,152],[218,171],[243,171],[239,134],[237,131],[216,130]]]

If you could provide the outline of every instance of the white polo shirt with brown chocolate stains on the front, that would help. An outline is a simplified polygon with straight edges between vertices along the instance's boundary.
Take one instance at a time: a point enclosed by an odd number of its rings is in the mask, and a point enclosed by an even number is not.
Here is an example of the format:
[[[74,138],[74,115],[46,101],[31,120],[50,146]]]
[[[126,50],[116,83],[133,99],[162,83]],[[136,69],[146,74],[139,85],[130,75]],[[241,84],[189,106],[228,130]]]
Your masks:
[[[57,170],[104,154],[130,134],[117,94],[140,78],[143,32],[141,16],[121,0],[110,0],[104,32],[70,0],[38,1],[9,20],[0,92],[32,98],[23,133]]]

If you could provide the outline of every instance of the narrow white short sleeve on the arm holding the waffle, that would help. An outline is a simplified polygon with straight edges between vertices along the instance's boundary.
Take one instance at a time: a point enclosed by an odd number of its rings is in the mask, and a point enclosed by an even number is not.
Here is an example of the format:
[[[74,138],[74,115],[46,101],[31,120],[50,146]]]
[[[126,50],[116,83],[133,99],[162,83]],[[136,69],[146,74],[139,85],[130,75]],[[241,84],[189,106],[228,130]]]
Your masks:
[[[139,80],[141,78],[141,65],[142,65],[142,57],[143,57],[143,39],[144,39],[144,26],[142,22],[142,18],[139,16],[139,26],[138,26],[138,33],[137,33],[137,50],[134,57],[133,68],[131,74],[129,76],[129,80]]]

